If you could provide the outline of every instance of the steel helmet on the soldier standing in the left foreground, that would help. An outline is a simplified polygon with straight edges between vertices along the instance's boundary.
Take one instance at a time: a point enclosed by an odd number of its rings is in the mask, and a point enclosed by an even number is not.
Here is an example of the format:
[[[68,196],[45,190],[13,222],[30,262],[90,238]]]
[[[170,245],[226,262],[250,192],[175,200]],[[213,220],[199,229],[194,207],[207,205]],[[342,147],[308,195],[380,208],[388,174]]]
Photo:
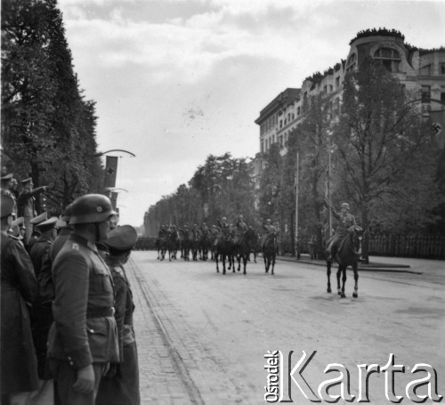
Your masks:
[[[101,223],[116,214],[108,197],[102,194],[86,194],[73,202],[69,224]]]

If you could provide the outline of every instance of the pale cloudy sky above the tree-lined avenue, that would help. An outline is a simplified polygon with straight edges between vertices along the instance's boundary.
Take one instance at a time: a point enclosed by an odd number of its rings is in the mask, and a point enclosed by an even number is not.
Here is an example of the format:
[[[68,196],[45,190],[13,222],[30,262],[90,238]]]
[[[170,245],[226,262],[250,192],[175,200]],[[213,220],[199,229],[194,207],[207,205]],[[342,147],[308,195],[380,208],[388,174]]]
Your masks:
[[[443,1],[58,0],[74,70],[117,156],[121,224],[140,226],[209,155],[255,158],[260,111],[345,59],[368,28],[445,45]]]

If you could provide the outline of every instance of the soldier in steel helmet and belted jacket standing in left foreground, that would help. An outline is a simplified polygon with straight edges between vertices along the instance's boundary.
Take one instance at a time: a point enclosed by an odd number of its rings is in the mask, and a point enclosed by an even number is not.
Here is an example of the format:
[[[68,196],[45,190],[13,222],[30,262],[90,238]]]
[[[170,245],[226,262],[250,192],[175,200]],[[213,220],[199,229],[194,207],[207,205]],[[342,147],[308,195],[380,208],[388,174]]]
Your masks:
[[[60,403],[93,405],[109,363],[118,362],[114,288],[96,243],[108,238],[116,215],[101,194],[77,198],[69,239],[53,263],[53,318],[48,357]]]

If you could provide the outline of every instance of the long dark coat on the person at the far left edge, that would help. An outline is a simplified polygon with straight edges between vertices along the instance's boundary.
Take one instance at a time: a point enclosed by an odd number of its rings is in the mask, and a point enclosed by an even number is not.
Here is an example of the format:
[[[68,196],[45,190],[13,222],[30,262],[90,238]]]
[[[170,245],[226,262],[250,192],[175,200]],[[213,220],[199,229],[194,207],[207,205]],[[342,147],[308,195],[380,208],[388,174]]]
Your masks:
[[[31,259],[17,239],[1,238],[2,394],[36,390],[37,361],[28,305],[36,299],[37,280]]]

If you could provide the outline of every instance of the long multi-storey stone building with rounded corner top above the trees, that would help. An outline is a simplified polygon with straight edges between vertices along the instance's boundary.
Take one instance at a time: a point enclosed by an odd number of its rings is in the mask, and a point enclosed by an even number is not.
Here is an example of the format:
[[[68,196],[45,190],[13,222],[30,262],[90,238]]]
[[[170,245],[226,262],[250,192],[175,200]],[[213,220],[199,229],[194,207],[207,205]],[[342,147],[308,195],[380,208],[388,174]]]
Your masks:
[[[381,61],[386,69],[397,77],[407,90],[418,90],[425,111],[445,104],[445,48],[439,50],[418,49],[406,44],[404,36],[396,30],[368,29],[360,31],[350,42],[346,58],[323,74],[316,72],[304,79],[301,88],[287,88],[279,93],[255,119],[260,127],[259,152],[253,165],[256,187],[263,171],[263,155],[273,143],[279,143],[281,154],[286,154],[289,134],[302,120],[302,106],[306,97],[326,93],[331,117],[336,117],[342,102],[344,76],[356,69],[367,57]],[[435,104],[435,105],[434,105]]]

